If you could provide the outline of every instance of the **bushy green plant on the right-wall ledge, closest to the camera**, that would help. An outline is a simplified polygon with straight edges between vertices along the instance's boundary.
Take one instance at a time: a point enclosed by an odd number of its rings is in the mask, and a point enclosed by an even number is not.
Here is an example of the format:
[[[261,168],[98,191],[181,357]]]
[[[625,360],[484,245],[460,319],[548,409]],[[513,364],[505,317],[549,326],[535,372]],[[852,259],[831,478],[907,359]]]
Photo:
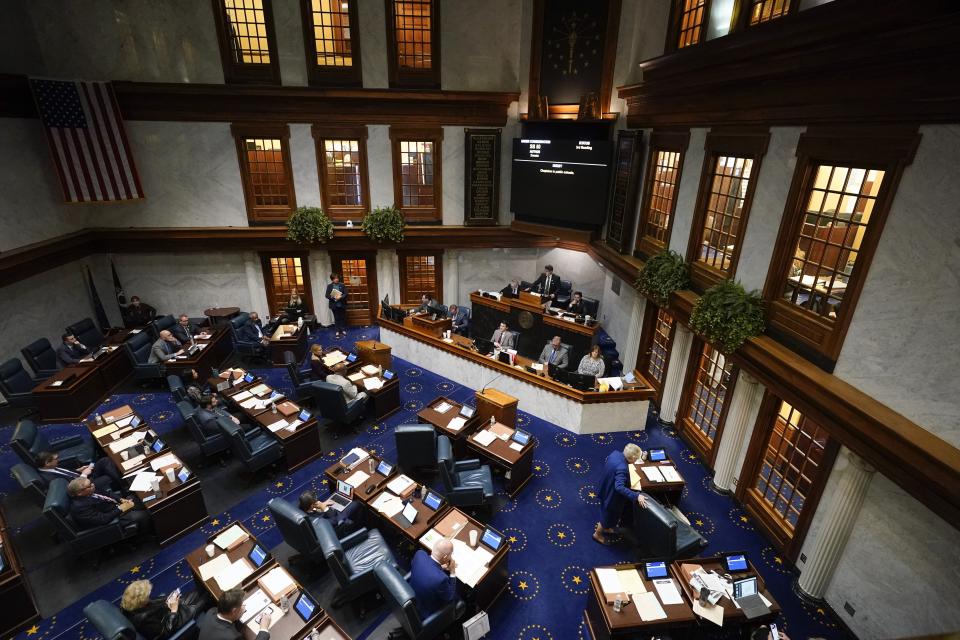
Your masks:
[[[721,352],[730,354],[747,338],[763,333],[763,300],[739,282],[724,280],[707,289],[693,307],[690,328]]]

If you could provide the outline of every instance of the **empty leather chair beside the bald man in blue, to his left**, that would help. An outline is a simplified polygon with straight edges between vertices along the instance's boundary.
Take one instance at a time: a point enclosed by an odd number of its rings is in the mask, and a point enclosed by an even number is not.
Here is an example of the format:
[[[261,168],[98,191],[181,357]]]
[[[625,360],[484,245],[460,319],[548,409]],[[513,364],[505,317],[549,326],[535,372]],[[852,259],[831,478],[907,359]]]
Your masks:
[[[329,520],[318,518],[313,524],[323,557],[340,585],[334,608],[376,589],[373,569],[381,562],[396,568],[393,552],[376,529],[359,529],[340,540]]]

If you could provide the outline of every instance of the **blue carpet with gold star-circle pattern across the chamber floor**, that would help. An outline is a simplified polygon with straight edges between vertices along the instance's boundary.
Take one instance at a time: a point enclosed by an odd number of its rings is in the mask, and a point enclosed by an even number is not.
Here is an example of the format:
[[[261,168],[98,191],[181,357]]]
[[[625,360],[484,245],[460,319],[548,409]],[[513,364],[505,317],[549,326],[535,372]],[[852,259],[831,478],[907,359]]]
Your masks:
[[[348,347],[355,340],[377,335],[378,331],[373,327],[352,329],[347,338],[339,341],[333,340],[332,333],[327,331],[320,332],[313,339],[321,339],[324,345],[339,343]],[[326,493],[323,469],[354,444],[366,446],[387,459],[395,460],[393,427],[415,422],[417,411],[438,395],[473,403],[473,389],[398,358],[394,358],[394,369],[400,375],[402,409],[386,422],[365,422],[356,439],[338,441],[340,446],[326,452],[321,460],[294,474],[279,476],[267,489],[247,496],[223,513],[211,514],[211,519],[200,529],[160,550],[140,565],[130,567],[123,575],[84,595],[55,615],[43,619],[18,638],[48,640],[98,637],[96,630],[83,617],[83,606],[101,598],[117,601],[125,586],[133,580],[149,578],[156,592],[169,592],[175,587],[193,589],[184,555],[201,546],[213,531],[233,520],[244,522],[262,542],[271,548],[275,547],[280,544],[281,537],[271,522],[265,506],[267,500],[275,496],[295,500],[307,487]],[[289,390],[290,380],[284,369],[262,369],[257,373],[266,377],[276,388]],[[101,411],[124,403],[133,404],[160,433],[168,433],[182,426],[169,393],[158,391],[114,395],[104,403]],[[519,426],[533,433],[537,440],[535,477],[516,500],[509,500],[505,493],[500,492],[503,506],[491,522],[508,536],[511,550],[509,589],[490,612],[493,631],[489,637],[493,640],[586,637],[582,613],[588,591],[588,570],[592,566],[615,564],[632,557],[626,543],[603,547],[591,539],[597,520],[599,469],[612,449],[622,449],[628,442],[635,442],[641,447],[662,446],[668,450],[688,484],[679,506],[693,526],[710,541],[703,553],[745,550],[783,607],[783,615],[778,620],[781,630],[794,640],[809,636],[831,639],[847,637],[832,612],[809,605],[793,594],[790,586],[792,570],[787,561],[780,557],[730,498],[709,490],[707,470],[676,432],[669,427],[661,428],[653,416],[648,416],[646,420],[646,430],[640,430],[642,425],[638,423],[636,431],[578,436],[520,412]],[[76,424],[49,425],[44,427],[44,431],[56,438],[85,433],[86,429]],[[3,443],[0,445],[0,465],[6,468],[17,462],[9,447],[11,433],[12,425],[0,428],[0,442]],[[14,491],[19,491],[19,488],[12,478],[0,478],[0,492]],[[28,523],[22,529],[29,529],[30,526]],[[402,556],[406,556],[410,549],[400,551]],[[33,586],[35,589],[42,588],[41,585]],[[369,621],[368,629],[376,624],[377,621]],[[734,634],[705,626],[702,628],[702,637],[727,638],[734,637]]]

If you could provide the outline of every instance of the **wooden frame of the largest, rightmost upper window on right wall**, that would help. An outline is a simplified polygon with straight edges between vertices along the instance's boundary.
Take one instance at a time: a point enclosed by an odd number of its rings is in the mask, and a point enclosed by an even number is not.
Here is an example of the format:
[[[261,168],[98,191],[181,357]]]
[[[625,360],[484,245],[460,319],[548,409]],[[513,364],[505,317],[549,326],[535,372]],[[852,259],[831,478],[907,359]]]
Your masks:
[[[797,165],[787,195],[777,243],[764,284],[769,333],[800,355],[828,371],[833,370],[856,310],[870,264],[904,169],[913,162],[920,134],[914,126],[811,128],[797,144]],[[831,320],[781,299],[792,264],[797,236],[806,216],[810,186],[818,165],[850,166],[884,171],[870,221],[847,281],[843,304]]]

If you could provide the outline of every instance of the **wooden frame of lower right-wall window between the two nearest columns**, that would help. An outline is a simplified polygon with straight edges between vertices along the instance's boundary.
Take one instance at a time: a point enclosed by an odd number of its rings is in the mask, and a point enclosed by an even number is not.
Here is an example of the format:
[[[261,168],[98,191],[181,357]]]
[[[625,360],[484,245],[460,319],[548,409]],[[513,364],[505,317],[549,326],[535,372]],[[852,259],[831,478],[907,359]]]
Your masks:
[[[811,485],[810,494],[804,498],[804,508],[800,513],[800,517],[797,519],[797,526],[794,527],[793,536],[787,536],[780,527],[775,526],[771,522],[771,518],[775,519],[778,516],[771,514],[770,510],[762,501],[757,505],[753,499],[748,499],[747,496],[753,489],[754,479],[760,471],[760,466],[763,464],[763,454],[766,449],[767,440],[770,437],[770,432],[773,430],[774,420],[776,419],[781,401],[790,403],[795,409],[799,410],[804,417],[811,417],[811,419],[816,420],[817,423],[823,427],[824,431],[827,432],[828,436],[827,443],[823,450],[823,462],[820,465],[822,471],[817,475],[817,478]],[[774,546],[779,548],[791,561],[796,561],[797,556],[800,554],[807,530],[813,521],[813,516],[817,511],[817,505],[823,496],[823,489],[827,485],[827,479],[830,477],[833,463],[837,458],[837,452],[840,450],[840,443],[830,435],[833,430],[829,426],[824,425],[823,422],[815,416],[809,415],[806,409],[806,407],[798,405],[790,399],[781,398],[769,390],[766,392],[760,405],[760,412],[757,415],[753,435],[750,437],[750,445],[744,457],[743,467],[740,469],[740,477],[737,482],[736,491],[737,499],[744,506],[747,513],[753,516],[757,526],[773,541]]]

